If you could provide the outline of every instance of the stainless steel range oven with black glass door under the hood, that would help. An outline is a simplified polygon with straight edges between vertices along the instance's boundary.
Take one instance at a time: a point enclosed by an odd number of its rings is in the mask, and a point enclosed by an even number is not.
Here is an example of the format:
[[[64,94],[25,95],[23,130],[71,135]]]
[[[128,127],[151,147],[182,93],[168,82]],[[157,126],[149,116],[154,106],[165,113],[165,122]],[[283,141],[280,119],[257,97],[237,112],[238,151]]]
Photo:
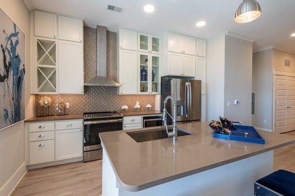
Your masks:
[[[118,112],[84,113],[84,162],[102,159],[99,133],[123,129],[123,118]]]

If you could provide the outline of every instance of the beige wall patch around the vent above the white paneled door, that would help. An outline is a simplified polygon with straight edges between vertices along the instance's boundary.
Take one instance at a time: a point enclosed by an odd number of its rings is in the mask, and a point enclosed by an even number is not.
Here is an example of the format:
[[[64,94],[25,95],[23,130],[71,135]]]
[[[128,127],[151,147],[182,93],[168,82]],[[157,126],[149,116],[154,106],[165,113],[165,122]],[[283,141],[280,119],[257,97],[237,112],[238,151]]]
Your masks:
[[[291,59],[291,67],[285,67],[285,58]],[[272,49],[272,68],[295,73],[295,55]]]

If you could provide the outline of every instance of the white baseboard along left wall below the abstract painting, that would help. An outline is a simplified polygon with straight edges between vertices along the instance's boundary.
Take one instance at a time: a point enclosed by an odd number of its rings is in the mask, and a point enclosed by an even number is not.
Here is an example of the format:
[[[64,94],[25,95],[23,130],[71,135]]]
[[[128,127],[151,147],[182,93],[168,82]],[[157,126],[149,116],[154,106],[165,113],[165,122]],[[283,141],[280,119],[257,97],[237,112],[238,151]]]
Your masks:
[[[27,165],[26,162],[24,162],[9,178],[9,180],[7,180],[7,182],[0,188],[0,196],[9,196],[27,173],[27,171]]]

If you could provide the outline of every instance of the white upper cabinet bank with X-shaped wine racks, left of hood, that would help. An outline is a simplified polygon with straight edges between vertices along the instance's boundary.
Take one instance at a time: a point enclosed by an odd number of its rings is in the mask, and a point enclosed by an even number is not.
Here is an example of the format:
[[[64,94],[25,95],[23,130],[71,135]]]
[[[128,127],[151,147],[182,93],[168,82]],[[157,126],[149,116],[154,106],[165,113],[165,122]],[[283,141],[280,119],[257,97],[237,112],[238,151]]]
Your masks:
[[[83,94],[83,20],[36,10],[30,19],[31,93]]]

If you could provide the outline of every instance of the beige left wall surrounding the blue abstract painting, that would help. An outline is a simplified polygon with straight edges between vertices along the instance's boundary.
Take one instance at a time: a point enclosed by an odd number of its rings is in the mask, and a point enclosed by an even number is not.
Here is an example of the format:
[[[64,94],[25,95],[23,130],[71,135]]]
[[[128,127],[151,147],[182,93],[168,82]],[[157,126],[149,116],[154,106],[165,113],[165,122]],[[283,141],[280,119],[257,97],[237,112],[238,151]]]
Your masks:
[[[30,96],[29,10],[23,0],[0,0],[1,9],[26,34],[26,117],[34,115],[34,96]],[[29,111],[28,111],[29,110]],[[7,195],[5,183],[25,162],[25,128],[19,122],[0,130],[0,195]],[[7,184],[6,184],[7,185]],[[5,185],[5,186],[6,186]],[[7,188],[7,186],[6,186]]]

